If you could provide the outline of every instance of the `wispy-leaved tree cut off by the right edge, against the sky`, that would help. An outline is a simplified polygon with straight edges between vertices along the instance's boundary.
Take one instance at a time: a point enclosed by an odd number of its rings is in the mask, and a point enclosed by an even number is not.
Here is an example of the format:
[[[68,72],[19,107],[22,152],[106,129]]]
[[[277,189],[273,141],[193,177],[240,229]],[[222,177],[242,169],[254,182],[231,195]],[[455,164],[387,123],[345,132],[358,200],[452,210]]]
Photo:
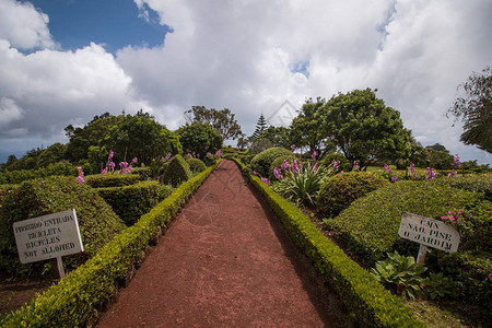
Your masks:
[[[455,99],[447,116],[464,122],[461,142],[492,153],[492,68],[488,66],[481,73],[473,72],[459,86],[465,96]]]

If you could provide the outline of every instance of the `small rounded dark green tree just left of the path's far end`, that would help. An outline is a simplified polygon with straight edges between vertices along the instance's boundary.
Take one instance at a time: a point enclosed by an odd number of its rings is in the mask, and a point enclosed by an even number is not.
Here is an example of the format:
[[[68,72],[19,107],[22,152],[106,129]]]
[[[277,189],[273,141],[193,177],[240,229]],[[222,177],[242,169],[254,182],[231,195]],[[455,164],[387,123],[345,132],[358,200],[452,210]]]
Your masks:
[[[200,157],[208,152],[215,153],[222,148],[223,138],[210,125],[202,122],[186,124],[176,133],[185,152],[199,154]]]

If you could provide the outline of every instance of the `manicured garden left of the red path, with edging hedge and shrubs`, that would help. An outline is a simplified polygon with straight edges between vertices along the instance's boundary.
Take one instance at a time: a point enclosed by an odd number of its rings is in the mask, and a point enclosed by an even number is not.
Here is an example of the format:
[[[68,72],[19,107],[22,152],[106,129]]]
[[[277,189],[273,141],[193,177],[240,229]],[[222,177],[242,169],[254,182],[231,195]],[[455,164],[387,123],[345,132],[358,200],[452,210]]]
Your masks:
[[[20,263],[13,222],[74,208],[84,243],[84,253],[63,257],[69,274],[22,309],[2,314],[2,327],[80,326],[94,320],[219,163],[210,155],[211,166],[202,161],[190,166],[190,159],[176,155],[165,162],[162,177],[149,178],[149,169],[133,171],[131,165],[115,171],[112,153],[103,174],[84,176],[79,169],[78,177],[49,176],[0,187],[2,279],[20,284],[26,279],[49,281],[56,270],[52,261]]]

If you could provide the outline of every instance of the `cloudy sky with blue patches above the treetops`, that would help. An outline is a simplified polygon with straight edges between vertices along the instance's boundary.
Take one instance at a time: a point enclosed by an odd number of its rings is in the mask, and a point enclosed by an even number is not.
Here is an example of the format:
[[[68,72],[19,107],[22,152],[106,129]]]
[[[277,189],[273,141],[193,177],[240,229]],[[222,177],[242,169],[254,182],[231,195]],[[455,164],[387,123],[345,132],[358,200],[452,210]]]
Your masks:
[[[462,161],[445,113],[492,65],[490,0],[0,0],[0,162],[67,142],[63,128],[143,108],[176,129],[194,105],[251,134],[306,97],[377,89],[423,144]]]

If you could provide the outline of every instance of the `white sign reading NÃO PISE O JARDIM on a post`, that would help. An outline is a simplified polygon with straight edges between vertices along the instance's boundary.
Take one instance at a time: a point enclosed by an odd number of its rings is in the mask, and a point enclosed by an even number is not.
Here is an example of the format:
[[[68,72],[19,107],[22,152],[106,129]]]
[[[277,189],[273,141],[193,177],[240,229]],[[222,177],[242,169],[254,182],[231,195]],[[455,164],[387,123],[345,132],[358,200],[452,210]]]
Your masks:
[[[405,239],[445,251],[458,250],[459,232],[443,221],[405,212],[398,235]]]

